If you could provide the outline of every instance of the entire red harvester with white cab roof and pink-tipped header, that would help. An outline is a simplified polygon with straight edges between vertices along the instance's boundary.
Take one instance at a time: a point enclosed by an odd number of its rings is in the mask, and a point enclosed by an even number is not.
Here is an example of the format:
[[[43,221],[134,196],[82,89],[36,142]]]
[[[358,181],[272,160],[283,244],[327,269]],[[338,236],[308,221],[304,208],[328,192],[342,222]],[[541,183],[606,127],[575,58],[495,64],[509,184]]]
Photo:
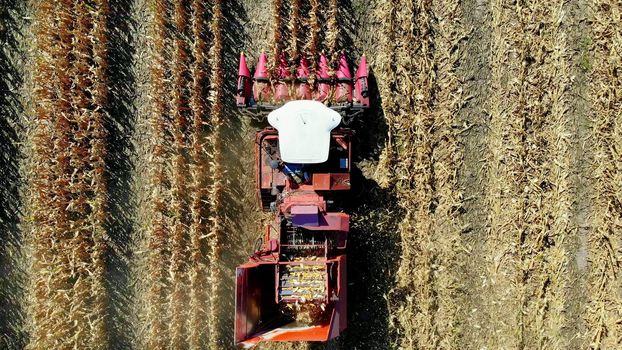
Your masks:
[[[367,63],[352,79],[342,55],[333,77],[320,57],[295,77],[281,57],[274,76],[264,53],[251,78],[240,56],[236,100],[267,114],[256,134],[257,197],[274,217],[248,262],[236,269],[235,342],[327,341],[347,324],[349,216],[337,202],[350,189],[352,131],[342,127],[369,107]]]

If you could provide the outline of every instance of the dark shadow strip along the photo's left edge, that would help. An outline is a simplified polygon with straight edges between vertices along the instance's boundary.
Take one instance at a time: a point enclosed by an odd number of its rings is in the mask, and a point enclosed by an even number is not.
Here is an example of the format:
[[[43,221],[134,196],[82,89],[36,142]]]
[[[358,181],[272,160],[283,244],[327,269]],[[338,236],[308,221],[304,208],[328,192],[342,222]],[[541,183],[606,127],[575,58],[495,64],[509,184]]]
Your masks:
[[[23,139],[24,108],[21,104],[22,72],[25,59],[22,42],[27,25],[22,1],[4,1],[0,7],[0,348],[20,349],[23,330],[25,271],[19,230],[21,176],[20,144]]]

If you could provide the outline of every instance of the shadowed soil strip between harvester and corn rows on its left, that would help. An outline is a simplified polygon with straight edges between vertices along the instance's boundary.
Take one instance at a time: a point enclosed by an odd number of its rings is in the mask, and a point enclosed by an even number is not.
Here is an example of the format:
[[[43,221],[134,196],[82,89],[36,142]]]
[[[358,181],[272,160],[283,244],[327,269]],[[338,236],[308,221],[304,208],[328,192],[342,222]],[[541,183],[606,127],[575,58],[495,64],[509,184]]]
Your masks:
[[[238,59],[243,43],[249,38],[244,32],[242,22],[247,21],[246,12],[241,3],[237,1],[223,2],[223,72],[224,75],[224,111],[223,127],[220,140],[222,147],[223,170],[225,171],[225,188],[222,198],[222,210],[224,234],[221,245],[221,295],[218,307],[219,327],[217,336],[212,339],[218,343],[219,348],[233,348],[233,316],[235,295],[235,266],[243,262],[247,256],[244,254],[245,246],[249,245],[249,225],[252,226],[248,217],[249,207],[245,202],[250,189],[254,188],[254,169],[248,168],[249,158],[254,154],[249,153],[248,137],[244,130],[248,125],[244,116],[235,106],[234,91],[237,83]],[[252,149],[250,149],[252,151]],[[251,163],[252,164],[252,163]],[[249,180],[251,182],[249,182]],[[255,203],[252,203],[255,204]]]

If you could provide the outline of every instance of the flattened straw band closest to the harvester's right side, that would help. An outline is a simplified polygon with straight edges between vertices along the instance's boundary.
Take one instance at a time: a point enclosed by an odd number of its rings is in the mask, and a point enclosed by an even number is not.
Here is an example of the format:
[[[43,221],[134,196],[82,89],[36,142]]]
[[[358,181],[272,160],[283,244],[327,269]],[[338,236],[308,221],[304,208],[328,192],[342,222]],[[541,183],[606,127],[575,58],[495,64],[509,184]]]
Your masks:
[[[397,287],[389,296],[393,332],[404,348],[457,346],[461,151],[453,126],[462,29],[448,20],[456,11],[457,2],[382,2],[377,14],[383,19],[378,84],[390,134],[383,164],[394,169],[390,182],[405,210]]]

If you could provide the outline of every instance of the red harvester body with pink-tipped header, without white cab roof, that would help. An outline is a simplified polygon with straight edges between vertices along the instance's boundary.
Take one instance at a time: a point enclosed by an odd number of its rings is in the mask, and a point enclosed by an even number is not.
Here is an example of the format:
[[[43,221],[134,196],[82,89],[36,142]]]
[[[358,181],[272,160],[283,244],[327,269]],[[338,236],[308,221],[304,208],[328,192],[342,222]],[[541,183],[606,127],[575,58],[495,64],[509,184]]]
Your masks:
[[[315,76],[311,77],[309,71],[308,61],[302,57],[292,74],[284,54],[270,71],[268,58],[262,53],[251,74],[246,57],[241,54],[236,103],[251,112],[263,112],[291,100],[316,100],[340,112],[344,118],[359,115],[369,107],[364,55],[354,77],[345,55],[339,57],[338,67],[329,67],[322,54]],[[330,71],[335,74],[329,74]],[[344,123],[347,121],[344,119]],[[347,326],[345,249],[349,216],[331,209],[331,201],[351,186],[352,131],[345,128],[332,131],[329,160],[306,165],[304,171],[310,177],[304,176],[302,183],[296,183],[281,168],[276,129],[268,127],[258,131],[255,141],[257,200],[264,211],[273,212],[274,220],[266,226],[262,247],[236,269],[234,340],[244,347],[261,341],[327,341],[337,337]],[[272,156],[268,156],[269,152]],[[344,158],[347,158],[345,167]],[[299,177],[296,180],[301,182]],[[300,255],[297,253],[300,249],[311,255]],[[297,265],[325,266],[323,274],[317,275],[313,270],[312,279],[302,278],[313,286],[311,299],[322,301],[323,312],[321,317],[303,325],[281,309],[294,301],[306,302],[303,294],[296,295],[297,287],[292,288],[292,285],[298,286],[293,282],[300,282],[296,277],[298,272],[292,271],[304,271],[304,268],[294,267]]]

